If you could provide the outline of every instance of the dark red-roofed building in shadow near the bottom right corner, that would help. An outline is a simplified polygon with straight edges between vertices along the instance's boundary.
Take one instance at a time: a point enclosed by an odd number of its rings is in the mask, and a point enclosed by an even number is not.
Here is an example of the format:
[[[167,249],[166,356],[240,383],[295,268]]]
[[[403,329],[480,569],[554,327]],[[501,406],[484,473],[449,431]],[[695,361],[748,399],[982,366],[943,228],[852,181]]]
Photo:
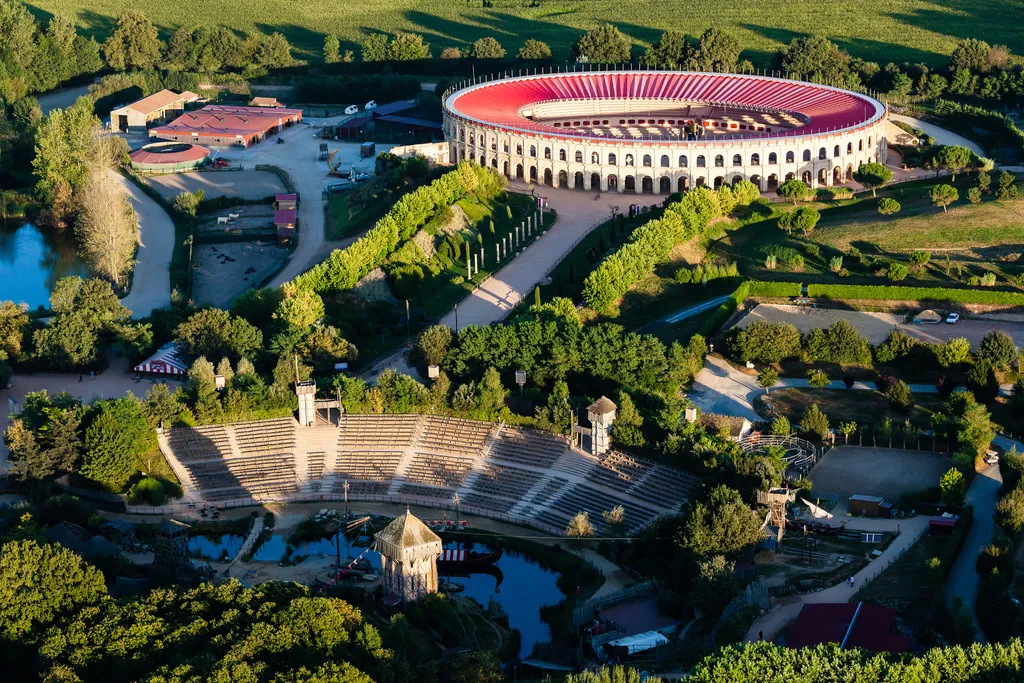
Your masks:
[[[808,603],[801,608],[785,645],[796,649],[839,643],[843,649],[903,652],[910,639],[893,633],[895,622],[895,609],[867,602]]]

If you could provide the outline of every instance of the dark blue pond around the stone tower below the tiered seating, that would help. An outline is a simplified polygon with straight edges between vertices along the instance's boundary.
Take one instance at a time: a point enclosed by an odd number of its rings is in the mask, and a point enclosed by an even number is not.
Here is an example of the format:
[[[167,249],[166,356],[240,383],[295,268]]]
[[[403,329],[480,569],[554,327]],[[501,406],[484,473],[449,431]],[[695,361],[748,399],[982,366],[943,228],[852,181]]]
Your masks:
[[[280,561],[288,545],[286,537],[275,533],[260,546],[254,560]],[[485,551],[483,544],[445,543],[445,548],[465,548],[467,550]],[[351,555],[357,556],[366,551],[364,558],[370,560],[375,569],[380,569],[380,555],[372,550],[352,547]],[[293,551],[293,557],[305,557],[313,554],[332,556],[335,554],[334,538],[309,541],[299,544]],[[341,539],[341,555],[345,556],[345,540]],[[537,643],[551,640],[551,629],[541,620],[541,607],[553,605],[565,599],[565,594],[558,590],[558,573],[542,567],[532,558],[506,550],[495,564],[485,567],[486,573],[464,573],[462,575],[440,572],[440,580],[460,584],[465,590],[460,593],[473,598],[484,608],[494,598],[509,616],[509,626],[518,629],[521,636],[519,654],[527,657]]]

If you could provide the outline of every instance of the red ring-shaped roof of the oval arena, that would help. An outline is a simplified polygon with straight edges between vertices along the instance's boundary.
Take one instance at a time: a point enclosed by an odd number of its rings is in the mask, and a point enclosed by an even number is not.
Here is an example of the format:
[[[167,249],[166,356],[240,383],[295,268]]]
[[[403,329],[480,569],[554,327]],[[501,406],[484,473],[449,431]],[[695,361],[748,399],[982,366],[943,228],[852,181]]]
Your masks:
[[[755,111],[781,111],[802,115],[807,123],[778,130],[769,137],[806,135],[856,128],[885,112],[866,95],[814,83],[764,76],[699,74],[685,72],[589,72],[511,78],[470,86],[446,99],[452,114],[479,123],[561,137],[592,137],[529,121],[520,116],[528,104],[588,99],[663,99],[729,105]],[[572,115],[571,118],[582,118]],[[591,116],[601,116],[594,114]],[[632,116],[643,116],[633,112]],[[612,140],[614,138],[599,139]]]

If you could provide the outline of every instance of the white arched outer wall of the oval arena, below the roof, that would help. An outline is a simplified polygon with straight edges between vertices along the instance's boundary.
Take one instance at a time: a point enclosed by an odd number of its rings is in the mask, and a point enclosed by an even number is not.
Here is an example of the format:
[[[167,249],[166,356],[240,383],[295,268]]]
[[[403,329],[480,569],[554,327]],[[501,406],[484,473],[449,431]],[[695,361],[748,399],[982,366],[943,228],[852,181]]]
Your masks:
[[[452,163],[475,161],[539,185],[667,195],[739,179],[770,191],[797,178],[811,187],[825,187],[852,180],[858,166],[884,164],[887,157],[888,113],[884,104],[863,95],[858,96],[874,105],[876,115],[856,127],[695,140],[609,140],[495,126],[454,112],[450,103],[458,95],[449,95],[443,108]]]

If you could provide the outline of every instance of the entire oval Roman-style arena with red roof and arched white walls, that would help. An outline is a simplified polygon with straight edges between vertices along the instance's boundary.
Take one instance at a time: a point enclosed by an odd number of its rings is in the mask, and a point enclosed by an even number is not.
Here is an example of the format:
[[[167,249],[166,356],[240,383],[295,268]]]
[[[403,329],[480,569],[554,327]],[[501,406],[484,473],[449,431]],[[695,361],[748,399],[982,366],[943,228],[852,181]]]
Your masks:
[[[885,104],[767,76],[594,71],[477,80],[445,93],[453,161],[536,184],[670,194],[746,179],[812,187],[885,163]]]

